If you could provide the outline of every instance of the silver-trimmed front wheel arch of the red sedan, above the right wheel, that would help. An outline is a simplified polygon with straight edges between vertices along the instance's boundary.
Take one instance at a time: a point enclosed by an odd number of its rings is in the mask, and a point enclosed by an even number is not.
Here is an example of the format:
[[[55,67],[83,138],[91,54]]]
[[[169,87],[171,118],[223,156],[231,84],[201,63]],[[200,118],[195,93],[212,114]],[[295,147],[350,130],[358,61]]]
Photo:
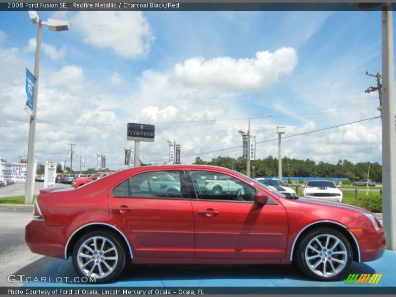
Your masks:
[[[360,262],[360,248],[357,243],[356,238],[351,232],[348,232],[346,230],[347,226],[344,226],[343,224],[340,224],[338,222],[334,221],[317,221],[313,222],[307,226],[305,226],[298,234],[297,237],[294,240],[292,250],[290,253],[290,261],[293,261],[293,257],[296,254],[296,246],[301,242],[301,240],[304,238],[304,235],[307,234],[309,231],[316,229],[318,227],[329,227],[329,228],[334,228],[335,230],[341,232],[348,240],[350,243],[350,246],[352,247],[352,253],[353,253],[353,261]]]

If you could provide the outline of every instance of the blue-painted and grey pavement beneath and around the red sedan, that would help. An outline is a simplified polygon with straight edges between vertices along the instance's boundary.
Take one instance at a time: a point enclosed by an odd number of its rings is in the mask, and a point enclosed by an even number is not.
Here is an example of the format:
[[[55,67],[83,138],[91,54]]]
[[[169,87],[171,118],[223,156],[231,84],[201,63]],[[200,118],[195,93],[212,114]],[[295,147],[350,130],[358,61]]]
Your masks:
[[[31,219],[30,209],[0,207],[0,285],[23,287],[53,287],[55,278],[62,277],[56,286],[88,288],[103,285],[82,284],[74,281],[76,273],[71,260],[56,259],[30,252],[24,242],[24,226]],[[372,262],[352,263],[350,273],[383,274],[376,285],[345,284],[337,282],[315,282],[305,277],[294,266],[279,265],[133,265],[128,264],[116,282],[104,285],[106,288],[200,288],[203,293],[367,293],[395,294],[396,252]],[[7,281],[7,276],[25,275],[37,277],[38,282]],[[50,282],[41,282],[45,280]],[[231,289],[230,289],[231,288]],[[363,290],[361,292],[361,290]],[[206,290],[206,291],[205,291]],[[227,291],[228,290],[228,291]],[[253,290],[253,291],[251,291]],[[255,290],[255,291],[254,291]],[[347,290],[347,291],[346,291]],[[370,291],[371,290],[371,291]],[[172,291],[173,292],[173,291]]]

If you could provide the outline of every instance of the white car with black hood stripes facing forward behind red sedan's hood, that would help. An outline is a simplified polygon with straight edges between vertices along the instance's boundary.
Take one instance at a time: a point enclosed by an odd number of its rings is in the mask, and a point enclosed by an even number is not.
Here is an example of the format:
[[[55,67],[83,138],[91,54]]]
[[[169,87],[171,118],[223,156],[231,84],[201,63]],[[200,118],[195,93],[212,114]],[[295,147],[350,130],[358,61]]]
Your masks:
[[[343,192],[338,189],[333,181],[327,180],[307,181],[302,187],[302,196],[340,203],[343,202]]]

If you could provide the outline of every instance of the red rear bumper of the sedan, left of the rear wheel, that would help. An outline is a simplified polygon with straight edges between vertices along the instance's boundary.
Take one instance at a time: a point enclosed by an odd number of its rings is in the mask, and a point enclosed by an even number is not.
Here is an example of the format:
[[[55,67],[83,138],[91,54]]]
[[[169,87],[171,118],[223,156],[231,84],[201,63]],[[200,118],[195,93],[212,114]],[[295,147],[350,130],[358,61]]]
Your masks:
[[[62,229],[61,226],[48,226],[42,220],[32,220],[25,227],[25,242],[34,253],[63,259]]]

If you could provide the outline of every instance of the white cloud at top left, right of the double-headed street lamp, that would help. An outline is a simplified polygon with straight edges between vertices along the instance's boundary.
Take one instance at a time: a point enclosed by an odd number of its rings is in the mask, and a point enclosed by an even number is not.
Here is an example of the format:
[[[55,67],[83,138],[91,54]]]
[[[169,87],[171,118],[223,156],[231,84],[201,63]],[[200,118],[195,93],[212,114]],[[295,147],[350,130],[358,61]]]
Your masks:
[[[71,22],[85,43],[128,59],[146,57],[154,41],[142,11],[79,11]]]

